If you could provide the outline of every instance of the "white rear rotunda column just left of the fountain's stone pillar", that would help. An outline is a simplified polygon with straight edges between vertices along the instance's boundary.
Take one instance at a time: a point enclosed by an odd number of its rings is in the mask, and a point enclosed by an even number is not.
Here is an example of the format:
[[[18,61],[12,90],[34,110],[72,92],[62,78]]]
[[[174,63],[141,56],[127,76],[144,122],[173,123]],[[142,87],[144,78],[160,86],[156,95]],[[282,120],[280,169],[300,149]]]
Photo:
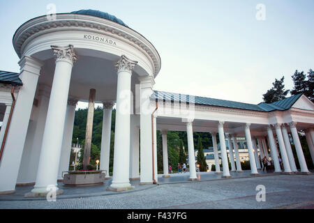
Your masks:
[[[75,118],[75,107],[78,100],[68,99],[68,107],[66,107],[66,122],[64,123],[62,148],[59,164],[58,180],[62,180],[62,172],[68,171],[70,164],[70,155],[72,148],[73,127]]]

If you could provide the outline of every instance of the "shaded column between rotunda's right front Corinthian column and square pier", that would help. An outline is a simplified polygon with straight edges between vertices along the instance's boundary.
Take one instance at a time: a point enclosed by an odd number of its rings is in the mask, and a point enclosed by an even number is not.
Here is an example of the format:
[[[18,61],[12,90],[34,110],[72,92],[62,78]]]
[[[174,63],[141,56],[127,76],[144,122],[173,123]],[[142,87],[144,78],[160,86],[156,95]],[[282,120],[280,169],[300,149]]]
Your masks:
[[[130,180],[140,179],[140,126],[137,125],[139,116],[131,116],[130,131]],[[136,119],[136,120],[135,120]],[[138,122],[138,124],[140,124]]]

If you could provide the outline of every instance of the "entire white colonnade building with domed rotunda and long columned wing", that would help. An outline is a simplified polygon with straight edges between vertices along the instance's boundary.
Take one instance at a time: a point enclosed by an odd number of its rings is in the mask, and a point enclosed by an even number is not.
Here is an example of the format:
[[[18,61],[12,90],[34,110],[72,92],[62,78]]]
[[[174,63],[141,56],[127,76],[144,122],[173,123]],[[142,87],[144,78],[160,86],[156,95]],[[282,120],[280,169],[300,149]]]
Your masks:
[[[165,167],[167,131],[187,132],[190,180],[197,179],[193,131],[211,132],[217,156],[219,139],[223,169],[216,171],[224,178],[231,177],[225,139],[236,160],[232,171],[241,171],[237,136],[246,137],[253,175],[259,167],[257,145],[266,156],[270,149],[276,171],[281,171],[278,151],[285,173],[298,171],[287,136],[290,132],[299,172],[309,173],[297,134],[306,130],[313,157],[314,105],[304,95],[251,105],[154,91],[161,66],[155,47],[117,17],[96,10],[61,13],[54,19],[36,17],[17,29],[13,45],[20,57],[20,73],[2,72],[1,76],[0,72],[0,103],[6,106],[0,132],[1,141],[5,139],[0,194],[14,192],[16,185],[33,184],[34,194],[57,186],[62,171],[68,170],[75,106],[89,100],[90,89],[96,89],[96,102],[104,105],[100,169],[109,169],[111,112],[117,105],[109,190],[132,189],[130,179],[158,183],[156,130],[163,131]],[[10,82],[1,78],[8,75]],[[167,168],[164,174],[168,176]]]

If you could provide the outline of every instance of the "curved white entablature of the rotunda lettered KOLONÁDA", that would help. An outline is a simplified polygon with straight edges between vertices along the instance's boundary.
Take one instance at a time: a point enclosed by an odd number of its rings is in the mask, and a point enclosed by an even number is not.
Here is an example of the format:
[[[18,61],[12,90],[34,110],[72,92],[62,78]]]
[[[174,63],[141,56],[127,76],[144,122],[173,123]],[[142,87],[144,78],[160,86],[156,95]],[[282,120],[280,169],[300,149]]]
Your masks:
[[[112,52],[109,53],[117,56],[128,54],[130,58],[139,61],[138,65],[146,70],[149,75],[156,77],[160,71],[160,56],[155,47],[144,36],[127,26],[94,15],[59,13],[54,20],[48,19],[46,15],[29,20],[15,32],[13,37],[15,52],[21,58],[24,55],[31,56],[36,52],[47,50],[49,49],[48,44],[40,48],[41,45],[44,45],[47,38],[41,40],[39,37],[60,31],[64,33],[70,32],[71,35],[74,35],[75,31],[77,31],[77,35],[80,36],[75,38],[69,36],[69,41],[76,41],[76,45],[73,44],[75,48],[88,48],[89,45],[86,43],[91,43],[94,47],[95,43],[103,43],[104,47],[112,49]],[[82,35],[82,32],[86,33]],[[68,40],[67,38],[68,36],[54,37],[52,40],[63,43],[65,40]],[[36,39],[40,40],[36,41]],[[81,40],[85,42],[83,43]],[[121,43],[120,46],[117,46],[118,42]],[[113,49],[114,47],[117,49]],[[137,58],[138,55],[144,59]]]

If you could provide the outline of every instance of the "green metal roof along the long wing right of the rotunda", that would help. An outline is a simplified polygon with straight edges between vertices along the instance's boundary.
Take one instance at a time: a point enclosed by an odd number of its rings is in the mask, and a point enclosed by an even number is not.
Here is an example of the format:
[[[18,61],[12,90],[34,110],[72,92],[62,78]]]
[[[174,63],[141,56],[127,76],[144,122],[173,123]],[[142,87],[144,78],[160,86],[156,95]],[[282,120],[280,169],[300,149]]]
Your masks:
[[[185,95],[181,93],[170,93],[165,91],[154,91],[155,98],[158,100],[170,100],[175,102],[194,103],[195,105],[210,105],[216,107],[228,107],[232,109],[245,109],[257,112],[271,112],[275,110],[284,111],[290,109],[290,107],[296,102],[301,94],[293,95],[290,98],[285,98],[277,102],[267,104],[260,103],[258,105],[234,102],[231,100],[220,100],[215,98],[204,98],[200,96]]]

